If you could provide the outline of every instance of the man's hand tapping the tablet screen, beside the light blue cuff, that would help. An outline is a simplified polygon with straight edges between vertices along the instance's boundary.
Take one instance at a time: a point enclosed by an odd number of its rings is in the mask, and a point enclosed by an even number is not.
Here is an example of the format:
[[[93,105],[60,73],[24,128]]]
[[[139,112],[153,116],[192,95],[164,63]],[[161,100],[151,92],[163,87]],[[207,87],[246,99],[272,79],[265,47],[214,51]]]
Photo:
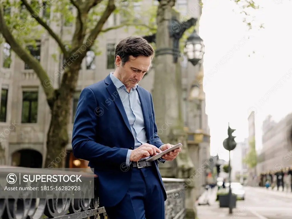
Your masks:
[[[145,144],[142,144],[140,147],[134,149],[131,152],[130,161],[138,161],[138,160],[145,158],[145,157],[149,157],[152,155],[154,156],[160,152],[161,152],[161,150],[159,150],[154,145],[150,145],[150,144],[145,143]]]

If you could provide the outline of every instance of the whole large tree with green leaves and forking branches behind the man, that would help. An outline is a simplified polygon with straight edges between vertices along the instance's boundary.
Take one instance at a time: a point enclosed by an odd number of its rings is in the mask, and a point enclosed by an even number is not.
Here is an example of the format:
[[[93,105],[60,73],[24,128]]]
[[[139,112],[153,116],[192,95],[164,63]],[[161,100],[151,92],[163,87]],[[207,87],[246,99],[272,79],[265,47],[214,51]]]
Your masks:
[[[135,0],[135,2],[140,0]],[[48,106],[51,110],[51,122],[47,133],[47,154],[45,166],[58,157],[69,142],[67,126],[72,96],[77,86],[78,74],[81,69],[82,60],[88,51],[95,51],[96,41],[100,34],[111,29],[124,26],[137,25],[131,23],[135,18],[130,13],[131,8],[125,7],[128,1],[115,0],[70,0],[52,1],[45,0],[43,4],[39,1],[6,0],[0,5],[0,34],[11,46],[15,54],[34,70],[39,78],[40,85],[46,95]],[[74,17],[72,8],[76,8],[77,16]],[[15,9],[13,11],[11,9]],[[133,11],[133,10],[132,10]],[[103,29],[103,26],[112,13],[122,13],[127,20],[119,26]],[[13,14],[12,14],[13,13]],[[53,13],[53,16],[50,16]],[[50,19],[51,18],[51,19]],[[66,24],[75,23],[75,30],[71,42],[63,41],[59,33],[54,29]],[[155,27],[148,27],[155,29]],[[53,87],[53,82],[43,66],[39,63],[26,46],[36,47],[38,39],[43,34],[49,35],[55,40],[60,48],[66,63],[63,72],[54,77],[60,77],[58,88]],[[54,54],[56,56],[56,54]],[[53,77],[53,78],[54,78]],[[54,78],[55,79],[55,78]],[[63,162],[55,164],[62,167]]]

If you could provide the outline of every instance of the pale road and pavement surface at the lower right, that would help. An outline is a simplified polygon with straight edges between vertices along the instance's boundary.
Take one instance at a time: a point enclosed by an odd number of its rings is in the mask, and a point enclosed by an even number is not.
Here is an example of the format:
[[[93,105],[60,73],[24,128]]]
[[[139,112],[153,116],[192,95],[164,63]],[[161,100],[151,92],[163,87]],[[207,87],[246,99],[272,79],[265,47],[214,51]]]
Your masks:
[[[219,208],[214,201],[215,192],[210,193],[210,204],[197,206],[199,219],[291,219],[292,193],[267,191],[265,188],[244,187],[245,200],[237,201],[233,214],[228,215],[228,208]]]

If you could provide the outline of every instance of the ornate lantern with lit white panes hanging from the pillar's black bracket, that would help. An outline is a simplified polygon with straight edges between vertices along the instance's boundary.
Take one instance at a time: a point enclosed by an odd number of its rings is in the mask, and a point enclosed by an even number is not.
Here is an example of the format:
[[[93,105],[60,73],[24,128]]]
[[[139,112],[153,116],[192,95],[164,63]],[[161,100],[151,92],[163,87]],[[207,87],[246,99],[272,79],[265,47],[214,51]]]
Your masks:
[[[205,46],[201,37],[197,34],[196,30],[187,38],[184,48],[188,60],[195,66],[202,60],[205,53]]]

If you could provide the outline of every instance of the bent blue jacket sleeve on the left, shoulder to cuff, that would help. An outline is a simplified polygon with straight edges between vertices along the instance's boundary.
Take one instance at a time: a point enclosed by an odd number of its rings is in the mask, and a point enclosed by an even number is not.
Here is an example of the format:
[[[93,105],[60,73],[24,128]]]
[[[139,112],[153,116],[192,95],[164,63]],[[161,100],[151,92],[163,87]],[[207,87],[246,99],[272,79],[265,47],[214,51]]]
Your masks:
[[[93,91],[86,87],[81,91],[77,104],[72,132],[72,152],[76,158],[104,164],[125,163],[128,149],[101,145],[97,140],[97,121],[95,114],[100,111]]]

